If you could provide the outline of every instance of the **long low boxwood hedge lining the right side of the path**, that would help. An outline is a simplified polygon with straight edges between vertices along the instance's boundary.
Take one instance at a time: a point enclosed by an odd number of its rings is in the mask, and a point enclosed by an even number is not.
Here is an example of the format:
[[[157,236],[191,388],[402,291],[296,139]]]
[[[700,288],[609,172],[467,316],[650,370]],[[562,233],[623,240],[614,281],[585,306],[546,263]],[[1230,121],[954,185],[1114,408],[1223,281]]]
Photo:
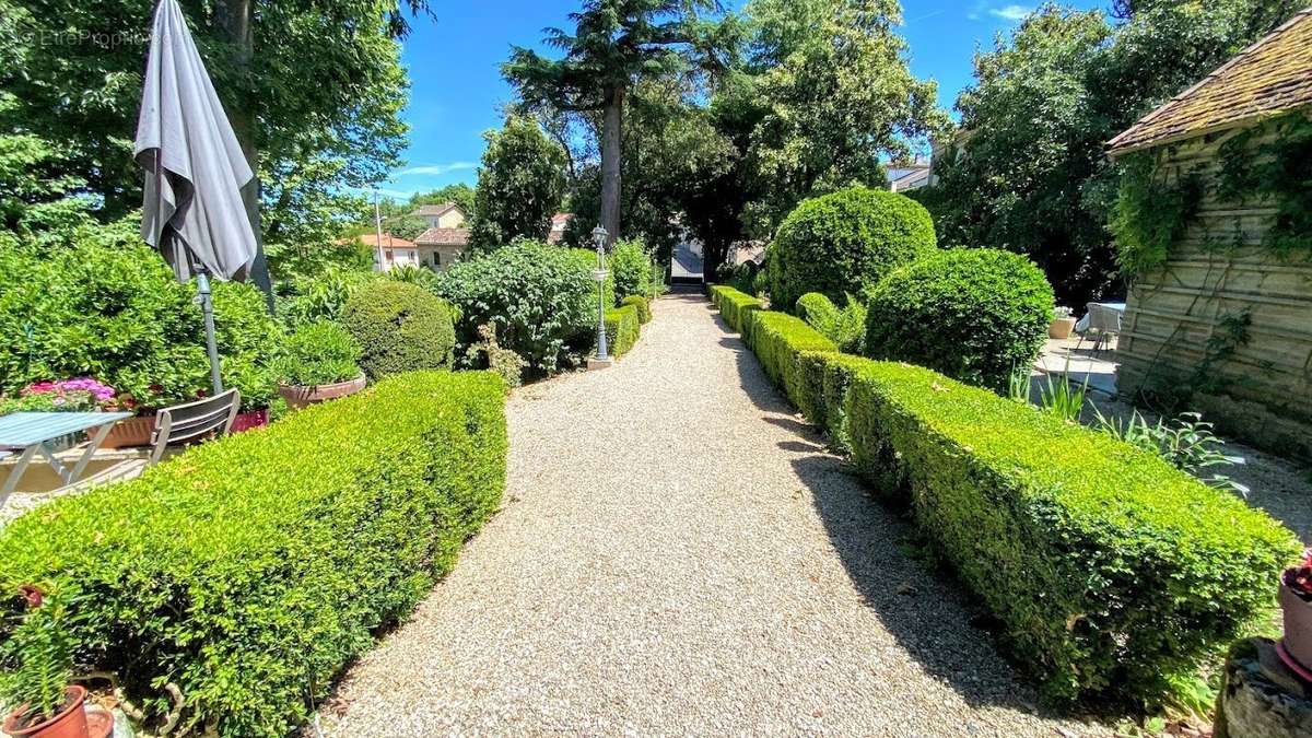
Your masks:
[[[911,507],[1047,697],[1161,699],[1269,615],[1302,546],[1266,513],[930,369],[803,351],[815,336],[785,318],[750,315],[766,372],[882,498]]]

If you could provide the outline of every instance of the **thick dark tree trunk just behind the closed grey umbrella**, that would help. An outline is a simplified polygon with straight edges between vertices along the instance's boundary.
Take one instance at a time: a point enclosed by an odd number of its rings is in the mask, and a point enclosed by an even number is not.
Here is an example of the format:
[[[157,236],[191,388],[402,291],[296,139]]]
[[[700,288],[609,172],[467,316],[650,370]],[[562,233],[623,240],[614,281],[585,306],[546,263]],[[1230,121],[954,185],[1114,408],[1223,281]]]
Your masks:
[[[237,68],[249,68],[255,56],[255,25],[252,24],[252,4],[255,0],[219,0],[215,14],[228,33],[228,39],[236,46]],[[269,260],[264,255],[264,232],[260,223],[260,151],[256,147],[255,100],[248,91],[240,91],[237,104],[228,108],[232,131],[241,144],[241,154],[255,172],[255,179],[241,189],[241,202],[245,205],[251,227],[255,228],[255,261],[251,264],[251,281],[264,293],[269,314],[274,311],[273,280],[269,277]]]

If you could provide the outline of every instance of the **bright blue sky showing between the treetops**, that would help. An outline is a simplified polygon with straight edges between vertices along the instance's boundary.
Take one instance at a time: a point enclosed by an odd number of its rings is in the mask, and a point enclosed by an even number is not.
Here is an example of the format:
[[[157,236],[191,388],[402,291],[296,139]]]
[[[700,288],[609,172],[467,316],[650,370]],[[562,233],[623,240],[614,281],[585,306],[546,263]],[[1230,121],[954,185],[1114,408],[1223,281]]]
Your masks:
[[[579,0],[446,0],[433,4],[436,21],[417,18],[401,55],[413,84],[404,114],[412,127],[408,164],[380,192],[409,197],[451,183],[474,184],[483,155],[483,131],[500,126],[501,106],[512,97],[499,71],[510,46],[541,47],[542,29],[568,26],[567,16],[579,4]],[[992,45],[996,33],[1013,28],[1035,4],[903,0],[901,33],[911,45],[912,71],[938,80],[939,104],[950,108],[970,81],[976,45]],[[1094,8],[1105,3],[1071,4]]]

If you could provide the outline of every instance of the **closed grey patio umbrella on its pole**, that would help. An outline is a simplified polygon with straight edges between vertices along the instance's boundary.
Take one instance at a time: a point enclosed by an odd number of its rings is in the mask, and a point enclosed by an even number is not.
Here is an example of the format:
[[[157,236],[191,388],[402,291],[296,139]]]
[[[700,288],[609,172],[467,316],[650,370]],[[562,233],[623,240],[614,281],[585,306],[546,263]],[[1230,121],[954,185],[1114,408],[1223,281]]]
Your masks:
[[[136,163],[146,169],[142,238],[180,281],[197,280],[205,311],[210,377],[223,391],[209,276],[244,280],[256,255],[241,188],[247,164],[177,0],[160,0],[151,30]]]

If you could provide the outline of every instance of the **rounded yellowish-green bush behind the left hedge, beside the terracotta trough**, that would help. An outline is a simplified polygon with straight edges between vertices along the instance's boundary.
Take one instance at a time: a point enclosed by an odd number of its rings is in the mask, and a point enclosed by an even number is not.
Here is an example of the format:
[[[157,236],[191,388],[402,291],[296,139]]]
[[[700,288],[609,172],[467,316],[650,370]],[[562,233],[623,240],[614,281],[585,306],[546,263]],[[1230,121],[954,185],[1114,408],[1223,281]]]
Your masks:
[[[373,381],[451,366],[451,311],[421,286],[392,280],[370,282],[346,299],[341,323],[363,351],[359,368]]]

